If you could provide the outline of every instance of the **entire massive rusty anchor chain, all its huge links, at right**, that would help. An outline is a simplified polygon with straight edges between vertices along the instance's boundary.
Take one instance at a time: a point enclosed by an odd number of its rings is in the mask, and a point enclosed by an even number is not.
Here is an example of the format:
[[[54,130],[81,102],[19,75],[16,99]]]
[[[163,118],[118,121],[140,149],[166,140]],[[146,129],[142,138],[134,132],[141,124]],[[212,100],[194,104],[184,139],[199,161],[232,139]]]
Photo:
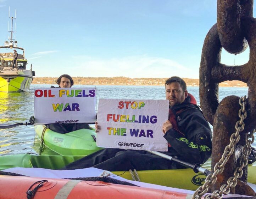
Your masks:
[[[200,63],[200,105],[206,119],[213,125],[212,169],[219,161],[224,146],[229,142],[234,124],[238,120],[238,97],[229,96],[219,103],[219,83],[226,80],[240,80],[247,83],[247,118],[245,129],[236,144],[236,152],[230,157],[223,173],[217,176],[218,189],[232,176],[235,164],[245,143],[244,133],[256,126],[256,19],[252,17],[252,0],[217,0],[217,23],[206,35]],[[241,66],[227,66],[221,63],[222,47],[228,52],[238,54],[250,47],[249,61]],[[236,154],[236,156],[235,156]],[[247,167],[240,180],[247,182]],[[241,183],[242,184],[242,183]],[[235,187],[231,193],[243,193],[245,187]],[[247,187],[248,189],[248,187]]]

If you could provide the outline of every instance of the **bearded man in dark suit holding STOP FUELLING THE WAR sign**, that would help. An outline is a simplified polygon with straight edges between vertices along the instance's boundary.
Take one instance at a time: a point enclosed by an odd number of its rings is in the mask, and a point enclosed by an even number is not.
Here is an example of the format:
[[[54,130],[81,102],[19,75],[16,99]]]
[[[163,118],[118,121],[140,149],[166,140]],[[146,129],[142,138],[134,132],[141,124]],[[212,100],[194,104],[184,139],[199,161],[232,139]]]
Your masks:
[[[169,119],[162,131],[168,141],[169,156],[190,163],[204,163],[211,155],[211,129],[199,107],[191,103],[186,83],[179,77],[166,80]],[[194,98],[194,97],[193,97]],[[194,102],[195,103],[195,102]],[[98,124],[95,125],[99,129]],[[63,169],[95,167],[109,171],[179,169],[183,166],[147,151],[106,148],[88,155]]]

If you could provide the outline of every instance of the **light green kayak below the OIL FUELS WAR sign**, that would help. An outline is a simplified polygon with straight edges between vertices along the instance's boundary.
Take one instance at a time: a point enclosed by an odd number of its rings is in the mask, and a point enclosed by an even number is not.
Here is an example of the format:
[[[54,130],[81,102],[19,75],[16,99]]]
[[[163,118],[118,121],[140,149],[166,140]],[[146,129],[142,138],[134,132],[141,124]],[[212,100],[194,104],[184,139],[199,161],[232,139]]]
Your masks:
[[[60,155],[85,156],[102,149],[96,146],[96,133],[93,129],[79,129],[61,134],[45,127],[45,125],[34,127],[38,138],[41,140],[43,135],[45,146]]]

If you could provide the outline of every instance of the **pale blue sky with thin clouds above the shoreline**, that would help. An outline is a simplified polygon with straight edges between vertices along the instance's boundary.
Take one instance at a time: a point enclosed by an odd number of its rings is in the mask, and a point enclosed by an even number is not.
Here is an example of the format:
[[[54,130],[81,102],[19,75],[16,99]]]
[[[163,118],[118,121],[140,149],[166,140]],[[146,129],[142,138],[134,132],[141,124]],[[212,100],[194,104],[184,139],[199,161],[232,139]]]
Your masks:
[[[199,78],[204,39],[217,21],[217,0],[0,0],[2,45],[9,6],[36,77]],[[227,65],[248,59],[249,49],[222,52]]]

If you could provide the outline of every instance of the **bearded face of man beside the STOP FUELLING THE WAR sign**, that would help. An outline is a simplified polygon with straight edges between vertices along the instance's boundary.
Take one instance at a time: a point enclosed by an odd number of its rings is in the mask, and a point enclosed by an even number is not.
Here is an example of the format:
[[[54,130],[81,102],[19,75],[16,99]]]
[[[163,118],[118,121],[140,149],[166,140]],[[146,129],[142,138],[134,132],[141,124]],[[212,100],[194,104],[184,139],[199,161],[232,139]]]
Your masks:
[[[188,97],[188,91],[183,91],[180,84],[172,82],[165,85],[166,100],[169,100],[170,107],[181,104]]]

